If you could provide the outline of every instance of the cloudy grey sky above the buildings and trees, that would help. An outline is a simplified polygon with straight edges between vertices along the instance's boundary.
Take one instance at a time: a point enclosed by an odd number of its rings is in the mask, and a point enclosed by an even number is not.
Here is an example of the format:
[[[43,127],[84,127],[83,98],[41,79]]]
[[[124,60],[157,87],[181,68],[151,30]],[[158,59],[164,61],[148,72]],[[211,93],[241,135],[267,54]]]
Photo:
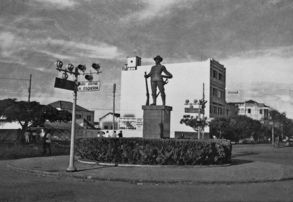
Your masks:
[[[213,58],[226,67],[226,90],[239,92],[227,102],[254,100],[293,118],[292,0],[5,0],[0,16],[1,99],[27,101],[31,74],[30,101],[72,102],[72,91],[54,88],[54,62],[99,63],[100,91],[77,95],[98,122],[113,112],[113,84],[119,113],[128,56],[142,65],[156,55],[162,64]]]

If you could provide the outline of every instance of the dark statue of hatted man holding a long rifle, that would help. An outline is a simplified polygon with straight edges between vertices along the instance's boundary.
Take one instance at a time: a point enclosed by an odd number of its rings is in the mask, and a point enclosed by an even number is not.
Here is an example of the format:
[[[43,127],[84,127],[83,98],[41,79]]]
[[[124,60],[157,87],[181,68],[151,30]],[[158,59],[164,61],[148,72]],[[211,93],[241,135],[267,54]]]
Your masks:
[[[153,97],[153,103],[151,105],[156,105],[156,99],[157,99],[157,86],[159,88],[159,91],[161,93],[162,102],[163,105],[166,104],[166,95],[165,95],[165,89],[164,89],[164,81],[163,78],[171,79],[173,76],[171,73],[169,73],[165,66],[161,65],[160,62],[163,61],[163,58],[161,58],[159,55],[154,57],[154,60],[156,62],[156,65],[151,67],[151,71],[147,76],[144,76],[145,78],[151,77],[151,95]],[[164,72],[167,76],[161,75],[161,73]]]

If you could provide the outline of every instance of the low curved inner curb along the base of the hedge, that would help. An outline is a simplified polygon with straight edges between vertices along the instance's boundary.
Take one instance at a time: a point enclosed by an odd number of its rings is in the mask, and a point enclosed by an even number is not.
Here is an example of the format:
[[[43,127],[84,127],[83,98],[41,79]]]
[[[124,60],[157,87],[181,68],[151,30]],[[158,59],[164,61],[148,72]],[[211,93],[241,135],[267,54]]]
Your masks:
[[[231,166],[233,163],[229,164],[223,164],[223,165],[193,165],[193,166],[172,166],[172,165],[137,165],[137,164],[117,164],[117,163],[96,163],[96,162],[90,162],[90,161],[83,161],[77,159],[78,162],[80,163],[85,163],[85,164],[95,164],[95,165],[100,165],[100,166],[113,166],[113,167],[147,167],[147,168],[211,168],[211,167],[225,167],[225,166]]]

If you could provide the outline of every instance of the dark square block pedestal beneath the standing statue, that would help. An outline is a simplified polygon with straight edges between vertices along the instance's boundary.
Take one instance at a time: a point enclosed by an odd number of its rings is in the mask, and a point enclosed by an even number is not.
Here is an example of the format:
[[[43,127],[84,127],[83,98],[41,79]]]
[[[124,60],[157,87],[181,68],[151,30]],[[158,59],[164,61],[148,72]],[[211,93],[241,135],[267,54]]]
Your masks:
[[[143,138],[170,138],[170,117],[172,107],[144,105]]]

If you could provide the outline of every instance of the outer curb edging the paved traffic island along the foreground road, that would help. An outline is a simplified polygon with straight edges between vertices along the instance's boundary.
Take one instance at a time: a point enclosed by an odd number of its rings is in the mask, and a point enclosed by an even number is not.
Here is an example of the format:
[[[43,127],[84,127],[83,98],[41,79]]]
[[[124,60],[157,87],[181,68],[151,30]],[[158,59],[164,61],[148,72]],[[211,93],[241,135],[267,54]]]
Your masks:
[[[253,179],[253,180],[235,180],[235,181],[197,181],[197,180],[140,180],[140,179],[123,179],[123,178],[111,178],[111,177],[99,177],[99,176],[89,176],[89,175],[75,175],[75,174],[60,174],[47,171],[38,171],[34,169],[25,169],[13,167],[6,164],[6,167],[11,170],[24,172],[28,174],[34,174],[39,176],[48,176],[63,179],[75,179],[75,180],[95,180],[95,181],[109,181],[109,182],[126,182],[131,184],[191,184],[191,185],[201,185],[201,184],[244,184],[244,183],[261,183],[261,182],[278,182],[278,181],[288,181],[293,180],[293,177],[289,178],[279,178],[279,179]]]

